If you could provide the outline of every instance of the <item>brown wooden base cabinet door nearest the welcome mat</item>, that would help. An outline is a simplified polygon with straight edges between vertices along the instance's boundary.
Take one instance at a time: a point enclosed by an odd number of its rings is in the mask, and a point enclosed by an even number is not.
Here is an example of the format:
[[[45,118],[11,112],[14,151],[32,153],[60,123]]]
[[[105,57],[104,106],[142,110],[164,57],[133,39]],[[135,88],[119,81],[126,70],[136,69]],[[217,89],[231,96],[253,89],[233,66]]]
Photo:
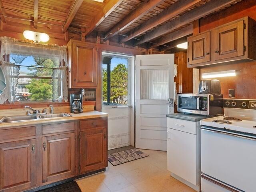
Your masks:
[[[105,168],[107,163],[106,128],[80,132],[80,174]]]

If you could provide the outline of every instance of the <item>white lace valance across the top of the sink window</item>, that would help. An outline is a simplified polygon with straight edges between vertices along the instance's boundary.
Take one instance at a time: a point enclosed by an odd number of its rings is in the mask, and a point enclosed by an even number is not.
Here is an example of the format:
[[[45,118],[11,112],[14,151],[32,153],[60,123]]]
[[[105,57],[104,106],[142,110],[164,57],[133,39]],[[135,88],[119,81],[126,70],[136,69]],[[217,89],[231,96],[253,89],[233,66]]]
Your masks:
[[[29,54],[32,55],[35,60],[37,58],[58,59],[60,62],[64,61],[66,67],[68,66],[67,46],[19,42],[17,39],[10,37],[0,37],[0,41],[2,42],[0,61],[4,61],[3,56],[5,54],[15,53],[18,55],[17,58],[14,58],[15,62],[21,63]]]

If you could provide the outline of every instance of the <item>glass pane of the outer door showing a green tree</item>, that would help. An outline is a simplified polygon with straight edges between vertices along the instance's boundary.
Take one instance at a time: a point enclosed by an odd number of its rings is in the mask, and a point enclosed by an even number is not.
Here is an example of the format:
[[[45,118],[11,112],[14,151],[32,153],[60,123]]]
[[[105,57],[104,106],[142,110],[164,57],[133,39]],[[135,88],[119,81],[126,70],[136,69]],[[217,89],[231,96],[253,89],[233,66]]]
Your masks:
[[[103,105],[128,105],[128,58],[102,56]]]

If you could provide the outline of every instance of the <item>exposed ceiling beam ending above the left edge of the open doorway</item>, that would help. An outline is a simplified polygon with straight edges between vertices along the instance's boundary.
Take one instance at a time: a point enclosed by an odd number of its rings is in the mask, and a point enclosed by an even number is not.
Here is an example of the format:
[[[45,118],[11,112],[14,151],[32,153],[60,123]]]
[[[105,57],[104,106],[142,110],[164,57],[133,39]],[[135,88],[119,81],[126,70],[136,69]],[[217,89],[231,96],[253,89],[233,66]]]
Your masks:
[[[136,9],[134,9],[128,16],[118,22],[113,26],[108,32],[106,32],[104,41],[118,34],[118,32],[124,30],[127,26],[132,24],[134,21],[138,20],[148,11],[152,10],[154,7],[158,6],[164,0],[146,0],[142,2]]]

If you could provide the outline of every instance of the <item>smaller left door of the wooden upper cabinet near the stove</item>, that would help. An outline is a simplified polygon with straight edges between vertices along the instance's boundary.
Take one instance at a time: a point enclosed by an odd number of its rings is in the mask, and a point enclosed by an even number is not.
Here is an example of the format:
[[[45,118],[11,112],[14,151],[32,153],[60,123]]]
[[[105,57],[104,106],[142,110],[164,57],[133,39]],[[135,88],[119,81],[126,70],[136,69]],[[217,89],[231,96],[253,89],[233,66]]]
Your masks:
[[[188,38],[188,64],[210,61],[210,32]]]

